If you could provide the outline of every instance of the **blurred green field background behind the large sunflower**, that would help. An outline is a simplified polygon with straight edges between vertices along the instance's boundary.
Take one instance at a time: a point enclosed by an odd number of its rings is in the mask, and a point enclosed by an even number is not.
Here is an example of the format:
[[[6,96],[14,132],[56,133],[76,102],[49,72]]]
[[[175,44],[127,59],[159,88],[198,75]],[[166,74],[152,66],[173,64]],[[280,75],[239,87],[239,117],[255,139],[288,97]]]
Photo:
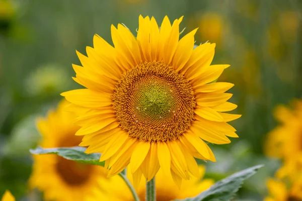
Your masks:
[[[199,27],[196,44],[216,43],[213,64],[231,64],[218,80],[235,83],[231,102],[243,116],[231,124],[240,138],[210,145],[217,162],[206,163],[206,177],[264,164],[236,200],[267,194],[266,179],[280,165],[263,154],[273,110],[302,94],[299,0],[0,0],[0,195],[10,189],[18,200],[39,200],[27,185],[28,150],[40,138],[35,119],[55,107],[60,92],[79,87],[71,79],[71,63],[80,64],[75,50],[85,53],[96,33],[112,44],[111,24],[135,33],[140,14],[159,23],[184,16],[184,33]]]

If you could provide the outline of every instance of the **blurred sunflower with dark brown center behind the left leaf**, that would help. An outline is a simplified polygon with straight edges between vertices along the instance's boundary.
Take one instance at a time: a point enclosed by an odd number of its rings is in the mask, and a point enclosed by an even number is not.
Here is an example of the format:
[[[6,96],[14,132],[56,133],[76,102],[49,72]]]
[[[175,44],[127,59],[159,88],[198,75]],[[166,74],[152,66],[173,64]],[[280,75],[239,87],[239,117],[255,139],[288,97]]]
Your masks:
[[[46,119],[37,121],[43,137],[42,147],[71,147],[81,142],[82,137],[74,135],[79,127],[72,124],[73,114],[62,110],[66,104],[64,100],[57,111],[50,111]],[[30,186],[43,191],[46,200],[105,200],[100,184],[106,184],[106,168],[52,154],[34,155],[33,158]]]

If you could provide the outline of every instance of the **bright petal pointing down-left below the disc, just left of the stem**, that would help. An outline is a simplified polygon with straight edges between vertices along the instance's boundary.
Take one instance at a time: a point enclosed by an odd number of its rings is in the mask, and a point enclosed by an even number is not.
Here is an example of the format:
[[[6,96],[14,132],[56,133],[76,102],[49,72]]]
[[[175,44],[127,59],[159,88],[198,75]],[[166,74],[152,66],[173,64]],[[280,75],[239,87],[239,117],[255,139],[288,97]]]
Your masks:
[[[145,159],[149,149],[150,149],[150,143],[149,142],[137,142],[136,147],[134,148],[133,154],[130,159],[130,167],[132,173],[139,168],[142,161]]]

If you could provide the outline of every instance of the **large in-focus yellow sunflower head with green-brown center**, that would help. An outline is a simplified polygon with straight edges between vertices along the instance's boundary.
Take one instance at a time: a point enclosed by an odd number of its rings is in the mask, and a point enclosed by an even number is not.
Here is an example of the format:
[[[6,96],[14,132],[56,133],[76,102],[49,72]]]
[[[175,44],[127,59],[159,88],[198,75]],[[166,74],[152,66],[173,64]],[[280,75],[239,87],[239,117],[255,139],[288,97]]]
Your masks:
[[[238,137],[229,121],[240,115],[222,113],[237,106],[224,93],[234,84],[211,83],[229,65],[210,65],[215,44],[195,49],[191,31],[179,40],[182,17],[171,25],[166,16],[139,17],[137,36],[121,24],[111,26],[114,47],[98,35],[88,54],[77,52],[83,65],[72,65],[75,81],[85,89],[61,95],[77,113],[86,153],[100,152],[109,175],[128,164],[134,184],[149,181],[160,167],[178,184],[199,177],[195,158],[215,161],[204,142],[227,144]]]

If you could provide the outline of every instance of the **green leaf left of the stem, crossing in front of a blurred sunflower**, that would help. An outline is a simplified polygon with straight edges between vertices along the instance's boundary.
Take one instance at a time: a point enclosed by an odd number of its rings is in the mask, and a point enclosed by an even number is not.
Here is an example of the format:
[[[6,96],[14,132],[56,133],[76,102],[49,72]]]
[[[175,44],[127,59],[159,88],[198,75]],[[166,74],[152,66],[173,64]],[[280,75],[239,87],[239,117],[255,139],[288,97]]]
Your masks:
[[[61,148],[42,148],[37,147],[36,149],[31,149],[32,154],[56,154],[62,156],[65,159],[77,161],[80,163],[86,163],[91,165],[105,166],[105,162],[100,162],[101,154],[93,153],[86,154],[85,147],[61,147]]]

